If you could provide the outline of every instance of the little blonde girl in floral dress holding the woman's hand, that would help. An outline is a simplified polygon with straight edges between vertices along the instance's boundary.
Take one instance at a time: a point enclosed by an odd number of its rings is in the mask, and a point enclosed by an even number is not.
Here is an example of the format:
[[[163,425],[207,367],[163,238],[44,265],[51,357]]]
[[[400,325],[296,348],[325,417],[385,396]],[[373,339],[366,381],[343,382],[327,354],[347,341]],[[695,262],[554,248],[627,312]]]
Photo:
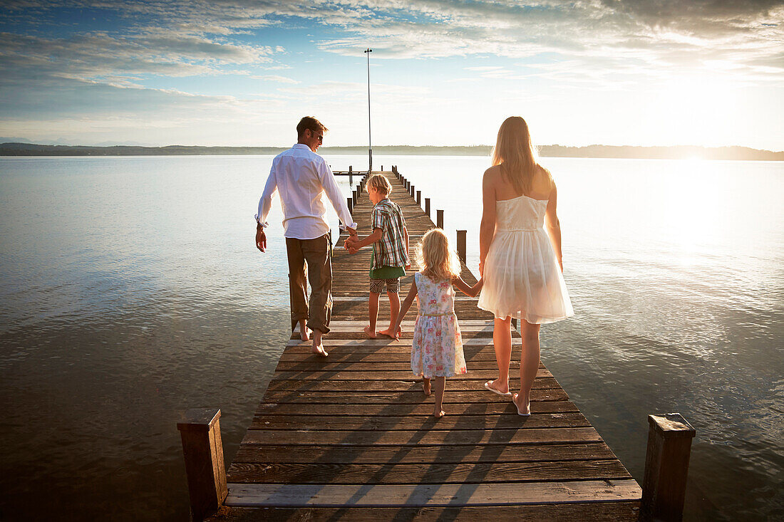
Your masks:
[[[457,254],[449,247],[444,230],[428,231],[416,251],[416,263],[420,271],[414,274],[411,290],[397,314],[393,332],[399,337],[399,327],[408,308],[416,297],[419,315],[414,327],[411,346],[411,369],[414,375],[422,375],[422,389],[430,395],[430,379],[436,379],[436,404],[433,415],[441,418],[446,378],[457,373],[466,373],[466,358],[463,356],[463,339],[455,315],[455,285],[461,292],[475,297],[482,288],[482,281],[469,286],[460,277],[460,262]]]

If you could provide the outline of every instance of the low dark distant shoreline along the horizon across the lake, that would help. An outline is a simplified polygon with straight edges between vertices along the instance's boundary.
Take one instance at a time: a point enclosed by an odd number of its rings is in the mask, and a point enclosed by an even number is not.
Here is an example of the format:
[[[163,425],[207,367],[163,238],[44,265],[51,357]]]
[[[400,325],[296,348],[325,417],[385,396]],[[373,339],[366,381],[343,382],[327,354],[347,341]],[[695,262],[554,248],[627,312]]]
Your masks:
[[[0,156],[201,156],[280,154],[288,147],[198,147],[170,145],[168,147],[87,147],[72,145],[39,145],[36,143],[0,143]],[[466,147],[412,147],[391,145],[374,147],[374,154],[429,155],[429,156],[489,156],[492,147],[475,145]],[[319,154],[368,154],[367,147],[321,147]],[[758,150],[749,147],[630,147],[614,145],[589,145],[564,147],[544,145],[539,154],[549,158],[630,158],[630,159],[690,159],[784,161],[784,151]]]

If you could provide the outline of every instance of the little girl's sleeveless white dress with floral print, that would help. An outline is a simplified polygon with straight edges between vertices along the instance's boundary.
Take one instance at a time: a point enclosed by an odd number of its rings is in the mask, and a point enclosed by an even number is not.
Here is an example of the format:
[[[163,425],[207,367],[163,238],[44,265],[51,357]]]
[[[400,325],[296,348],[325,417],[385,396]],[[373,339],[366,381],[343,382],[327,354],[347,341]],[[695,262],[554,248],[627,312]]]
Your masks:
[[[412,372],[428,379],[466,373],[452,281],[430,281],[421,272],[414,274],[414,281],[419,315],[411,346]]]

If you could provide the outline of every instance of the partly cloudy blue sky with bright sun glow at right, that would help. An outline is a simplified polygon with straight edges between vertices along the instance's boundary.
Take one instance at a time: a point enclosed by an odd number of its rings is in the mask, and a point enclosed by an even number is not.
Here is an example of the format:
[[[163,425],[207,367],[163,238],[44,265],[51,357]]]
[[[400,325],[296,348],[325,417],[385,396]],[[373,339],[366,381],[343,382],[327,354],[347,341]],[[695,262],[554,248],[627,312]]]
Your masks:
[[[4,0],[0,139],[784,150],[784,2]]]

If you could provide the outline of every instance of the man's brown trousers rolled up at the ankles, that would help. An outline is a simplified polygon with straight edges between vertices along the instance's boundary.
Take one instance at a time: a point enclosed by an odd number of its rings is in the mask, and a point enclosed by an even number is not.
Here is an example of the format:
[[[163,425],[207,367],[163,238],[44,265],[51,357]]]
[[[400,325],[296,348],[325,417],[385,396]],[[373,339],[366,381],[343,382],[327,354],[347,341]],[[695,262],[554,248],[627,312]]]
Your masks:
[[[292,332],[301,319],[311,330],[329,332],[332,317],[332,257],[328,234],[315,239],[286,237],[289,256],[289,296],[291,297]],[[307,263],[307,272],[305,269]],[[310,281],[310,310],[307,303]]]

